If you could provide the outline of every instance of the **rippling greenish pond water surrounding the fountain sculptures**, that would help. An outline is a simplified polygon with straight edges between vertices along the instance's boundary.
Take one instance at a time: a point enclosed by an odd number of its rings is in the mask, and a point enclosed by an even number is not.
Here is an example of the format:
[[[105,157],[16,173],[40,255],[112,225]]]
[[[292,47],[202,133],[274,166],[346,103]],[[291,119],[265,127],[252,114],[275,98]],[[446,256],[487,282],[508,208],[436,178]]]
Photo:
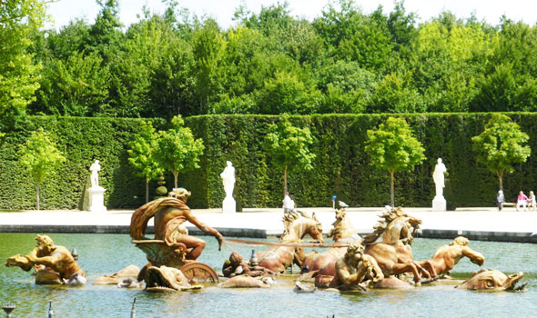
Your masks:
[[[423,285],[410,290],[380,290],[367,293],[294,293],[292,281],[279,278],[269,289],[223,289],[208,286],[197,292],[145,293],[142,290],[96,286],[98,276],[115,273],[129,264],[142,267],[145,254],[123,234],[51,234],[54,242],[69,250],[76,247],[78,263],[86,271],[88,283],[80,288],[42,286],[34,276],[19,268],[0,267],[0,303],[12,302],[15,317],[46,317],[48,302],[55,317],[130,317],[131,303],[137,298],[137,317],[530,317],[537,310],[537,245],[472,241],[472,249],[485,255],[485,268],[510,274],[522,271],[526,292],[479,293],[451,285]],[[0,259],[28,253],[35,247],[35,234],[0,234]],[[229,250],[213,237],[199,258],[219,271]],[[450,240],[416,239],[415,259],[430,258]],[[245,257],[248,246],[231,246]],[[257,247],[260,249],[260,247]],[[479,267],[467,259],[452,271],[467,278]],[[0,316],[4,314],[0,312]]]

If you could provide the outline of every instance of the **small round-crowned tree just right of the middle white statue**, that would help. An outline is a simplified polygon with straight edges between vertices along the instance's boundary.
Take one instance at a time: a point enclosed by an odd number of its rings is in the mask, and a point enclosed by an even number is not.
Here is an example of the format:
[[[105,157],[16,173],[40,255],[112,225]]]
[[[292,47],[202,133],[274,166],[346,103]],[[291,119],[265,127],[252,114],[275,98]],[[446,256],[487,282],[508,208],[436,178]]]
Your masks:
[[[309,152],[313,136],[309,128],[298,128],[284,115],[279,124],[269,125],[269,134],[265,136],[264,148],[272,158],[273,164],[283,169],[283,193],[288,190],[288,174],[307,171],[313,168],[315,154]]]

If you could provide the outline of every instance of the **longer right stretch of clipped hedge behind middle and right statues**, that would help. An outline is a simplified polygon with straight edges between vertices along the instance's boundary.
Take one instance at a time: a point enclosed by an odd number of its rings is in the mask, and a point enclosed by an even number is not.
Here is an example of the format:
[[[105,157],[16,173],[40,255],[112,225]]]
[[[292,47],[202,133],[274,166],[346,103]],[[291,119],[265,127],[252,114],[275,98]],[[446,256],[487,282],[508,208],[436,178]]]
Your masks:
[[[289,192],[299,205],[329,206],[331,195],[351,206],[381,206],[390,203],[390,176],[370,165],[364,153],[368,129],[376,128],[393,114],[325,114],[291,116],[293,124],[309,126],[317,142],[314,169],[289,175]],[[522,131],[530,134],[537,151],[537,114],[511,114]],[[395,115],[397,116],[397,115]],[[395,202],[402,206],[431,206],[434,197],[432,171],[442,158],[448,169],[452,202],[456,206],[492,206],[498,191],[495,174],[476,164],[471,137],[481,134],[491,114],[404,114],[426,148],[427,159],[411,172],[395,174]],[[280,206],[283,171],[273,167],[261,143],[268,124],[279,120],[269,115],[202,115],[187,118],[187,125],[204,139],[206,152],[201,169],[183,178],[192,190],[191,204],[219,207],[224,190],[219,174],[229,160],[236,168],[235,198],[243,207]],[[520,190],[534,188],[536,156],[517,164],[504,176],[506,200],[515,200]],[[446,191],[446,196],[448,191]]]

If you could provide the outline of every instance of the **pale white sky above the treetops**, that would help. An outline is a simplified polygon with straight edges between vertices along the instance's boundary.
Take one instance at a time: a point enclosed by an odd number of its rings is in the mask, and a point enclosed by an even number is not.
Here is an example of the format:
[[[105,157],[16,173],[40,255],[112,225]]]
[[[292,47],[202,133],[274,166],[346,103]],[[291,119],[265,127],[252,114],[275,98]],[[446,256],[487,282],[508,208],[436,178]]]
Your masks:
[[[179,0],[179,6],[187,8],[191,14],[208,15],[218,21],[218,25],[227,29],[234,25],[233,13],[239,5],[245,4],[248,9],[258,13],[261,6],[277,4],[278,0]],[[283,1],[280,1],[282,3]],[[309,20],[321,15],[323,7],[329,0],[288,0],[291,15],[304,17]],[[379,5],[385,13],[393,9],[393,0],[355,0],[363,12],[369,14]],[[142,7],[154,13],[164,12],[165,5],[161,0],[119,0],[119,16],[123,25],[137,22]],[[95,22],[99,6],[95,0],[56,0],[48,5],[48,14],[52,15],[54,25],[59,29],[76,17],[86,19],[90,24]],[[498,25],[502,15],[513,21],[523,21],[535,25],[537,21],[537,1],[533,0],[406,0],[404,6],[407,12],[415,12],[421,21],[427,21],[437,16],[441,11],[449,10],[460,18],[470,17],[474,13],[478,20],[485,20],[491,25]]]

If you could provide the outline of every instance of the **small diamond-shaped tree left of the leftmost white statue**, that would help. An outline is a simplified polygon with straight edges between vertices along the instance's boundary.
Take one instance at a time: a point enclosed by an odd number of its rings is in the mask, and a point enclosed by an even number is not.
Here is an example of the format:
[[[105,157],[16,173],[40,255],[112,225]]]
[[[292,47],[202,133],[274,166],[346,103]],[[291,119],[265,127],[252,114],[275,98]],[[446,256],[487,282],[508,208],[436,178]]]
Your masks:
[[[46,174],[65,162],[66,157],[57,150],[56,144],[41,127],[32,132],[30,138],[21,146],[18,154],[20,154],[19,164],[25,167],[25,170],[35,180],[36,208],[39,210],[39,187]]]

